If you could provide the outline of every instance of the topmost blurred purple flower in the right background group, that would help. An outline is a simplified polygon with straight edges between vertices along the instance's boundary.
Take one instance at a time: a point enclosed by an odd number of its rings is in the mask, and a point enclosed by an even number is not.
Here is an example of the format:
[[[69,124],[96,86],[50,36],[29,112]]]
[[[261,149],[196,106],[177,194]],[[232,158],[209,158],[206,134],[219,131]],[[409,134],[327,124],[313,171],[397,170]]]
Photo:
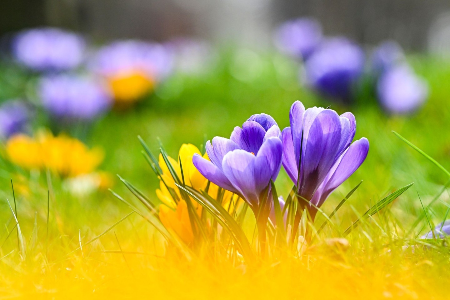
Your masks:
[[[280,51],[306,60],[322,40],[322,27],[313,18],[298,18],[284,22],[275,34]]]

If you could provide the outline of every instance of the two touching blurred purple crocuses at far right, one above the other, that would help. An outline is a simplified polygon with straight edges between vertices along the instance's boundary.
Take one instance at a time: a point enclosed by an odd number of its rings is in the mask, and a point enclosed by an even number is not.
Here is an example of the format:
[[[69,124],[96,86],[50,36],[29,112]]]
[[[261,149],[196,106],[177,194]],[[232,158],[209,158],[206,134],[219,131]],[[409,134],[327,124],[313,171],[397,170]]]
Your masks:
[[[384,42],[372,55],[372,73],[381,106],[389,113],[416,111],[428,97],[427,83],[406,63],[401,47]]]

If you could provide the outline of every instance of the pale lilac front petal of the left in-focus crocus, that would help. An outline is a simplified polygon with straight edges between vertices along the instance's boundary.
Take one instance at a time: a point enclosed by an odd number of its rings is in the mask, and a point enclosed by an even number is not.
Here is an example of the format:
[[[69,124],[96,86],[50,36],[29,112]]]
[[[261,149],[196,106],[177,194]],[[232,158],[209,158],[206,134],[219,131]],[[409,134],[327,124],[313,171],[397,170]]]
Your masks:
[[[228,152],[222,162],[226,178],[252,207],[257,207],[259,196],[253,175],[255,161],[252,153],[238,149]]]

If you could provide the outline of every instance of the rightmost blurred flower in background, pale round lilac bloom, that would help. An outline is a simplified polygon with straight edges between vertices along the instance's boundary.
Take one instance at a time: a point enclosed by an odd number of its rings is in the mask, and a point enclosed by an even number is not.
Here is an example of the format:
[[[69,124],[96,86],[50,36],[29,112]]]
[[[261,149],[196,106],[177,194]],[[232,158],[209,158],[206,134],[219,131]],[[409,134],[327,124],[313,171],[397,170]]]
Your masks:
[[[387,70],[378,80],[378,99],[390,113],[414,112],[428,97],[427,83],[406,65]]]

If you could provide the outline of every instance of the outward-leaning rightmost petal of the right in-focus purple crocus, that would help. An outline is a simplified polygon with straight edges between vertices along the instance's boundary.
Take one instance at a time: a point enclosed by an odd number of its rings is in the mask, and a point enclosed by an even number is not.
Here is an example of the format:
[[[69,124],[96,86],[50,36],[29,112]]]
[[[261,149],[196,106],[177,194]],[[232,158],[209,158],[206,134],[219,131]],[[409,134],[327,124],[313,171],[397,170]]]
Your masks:
[[[321,206],[328,196],[347,180],[364,162],[369,152],[369,141],[361,138],[352,143],[344,154],[336,161],[329,175],[317,190],[317,196],[311,200],[316,206]]]

